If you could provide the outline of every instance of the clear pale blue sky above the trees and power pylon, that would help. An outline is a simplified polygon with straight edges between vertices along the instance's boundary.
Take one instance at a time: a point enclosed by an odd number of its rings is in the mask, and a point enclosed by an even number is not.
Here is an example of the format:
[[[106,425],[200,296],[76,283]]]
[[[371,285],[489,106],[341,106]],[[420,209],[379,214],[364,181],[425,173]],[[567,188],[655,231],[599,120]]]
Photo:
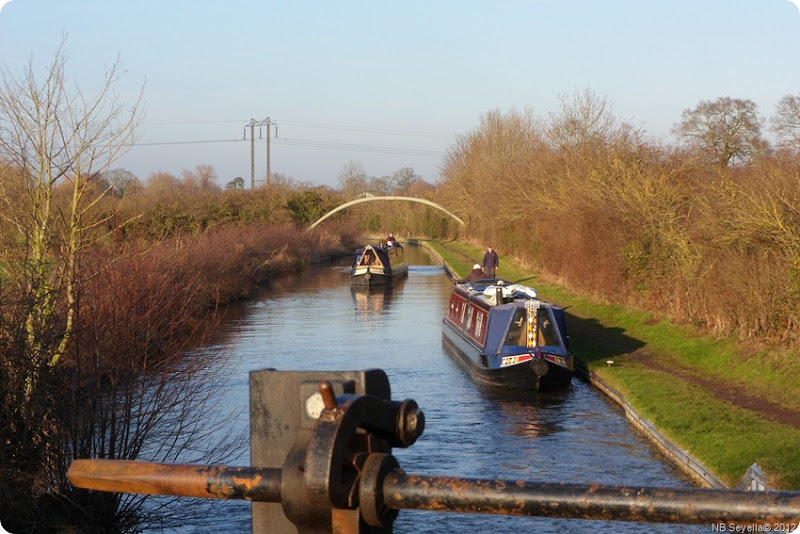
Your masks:
[[[748,98],[769,117],[800,94],[789,0],[12,0],[0,62],[46,65],[64,35],[82,87],[118,54],[119,92],[144,85],[142,144],[116,165],[142,179],[209,164],[249,184],[251,118],[278,123],[271,168],[296,180],[336,185],[355,160],[436,181],[455,136],[495,109],[547,118],[589,89],[671,141],[700,100]]]

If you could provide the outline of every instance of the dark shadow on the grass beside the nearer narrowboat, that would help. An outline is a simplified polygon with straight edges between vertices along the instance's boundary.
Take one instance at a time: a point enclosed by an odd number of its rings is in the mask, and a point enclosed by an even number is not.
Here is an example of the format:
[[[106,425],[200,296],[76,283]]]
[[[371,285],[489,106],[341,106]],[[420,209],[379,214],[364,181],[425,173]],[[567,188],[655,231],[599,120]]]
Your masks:
[[[605,326],[597,319],[566,312],[570,350],[587,366],[636,352],[645,342],[626,335],[622,328]]]

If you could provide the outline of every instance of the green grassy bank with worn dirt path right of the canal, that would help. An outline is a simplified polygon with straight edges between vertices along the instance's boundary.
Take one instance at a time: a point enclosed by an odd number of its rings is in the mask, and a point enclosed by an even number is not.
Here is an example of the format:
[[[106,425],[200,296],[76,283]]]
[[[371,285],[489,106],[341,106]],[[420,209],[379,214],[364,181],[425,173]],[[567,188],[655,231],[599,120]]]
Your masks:
[[[460,276],[483,257],[470,245],[428,243]],[[498,276],[567,308],[575,355],[721,480],[732,485],[758,463],[772,487],[800,489],[800,373],[786,364],[792,358],[598,304],[507,258]]]

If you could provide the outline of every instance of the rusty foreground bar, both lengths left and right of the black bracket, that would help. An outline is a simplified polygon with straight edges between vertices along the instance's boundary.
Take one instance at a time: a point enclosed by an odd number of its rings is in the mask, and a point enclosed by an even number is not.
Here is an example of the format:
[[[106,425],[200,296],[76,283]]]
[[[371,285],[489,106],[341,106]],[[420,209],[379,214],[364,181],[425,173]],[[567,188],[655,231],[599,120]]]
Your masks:
[[[409,475],[400,469],[381,476],[382,484],[376,482],[383,503],[377,505],[391,510],[682,524],[774,524],[800,517],[796,492],[481,480]],[[281,502],[276,468],[76,460],[69,479],[76,487],[101,491]]]

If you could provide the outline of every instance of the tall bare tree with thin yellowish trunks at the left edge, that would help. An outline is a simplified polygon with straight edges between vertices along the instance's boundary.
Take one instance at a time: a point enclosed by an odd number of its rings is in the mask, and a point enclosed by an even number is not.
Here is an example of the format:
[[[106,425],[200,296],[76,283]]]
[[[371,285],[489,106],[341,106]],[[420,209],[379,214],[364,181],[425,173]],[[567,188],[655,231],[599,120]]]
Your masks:
[[[93,182],[131,146],[140,120],[141,93],[131,106],[114,92],[122,74],[118,60],[94,95],[71,87],[66,64],[62,42],[43,81],[37,79],[32,59],[21,78],[0,69],[0,159],[22,176],[20,190],[2,190],[0,198],[8,205],[10,198],[21,195],[25,206],[2,213],[26,251],[10,268],[18,270],[16,280],[25,280],[32,303],[25,319],[35,369],[28,376],[28,394],[42,365],[56,365],[69,342],[77,255],[92,224],[90,212],[102,197]],[[70,189],[65,203],[55,201],[60,184]],[[60,253],[54,256],[56,244]],[[55,333],[52,327],[60,313],[55,297],[61,289],[66,307]]]

